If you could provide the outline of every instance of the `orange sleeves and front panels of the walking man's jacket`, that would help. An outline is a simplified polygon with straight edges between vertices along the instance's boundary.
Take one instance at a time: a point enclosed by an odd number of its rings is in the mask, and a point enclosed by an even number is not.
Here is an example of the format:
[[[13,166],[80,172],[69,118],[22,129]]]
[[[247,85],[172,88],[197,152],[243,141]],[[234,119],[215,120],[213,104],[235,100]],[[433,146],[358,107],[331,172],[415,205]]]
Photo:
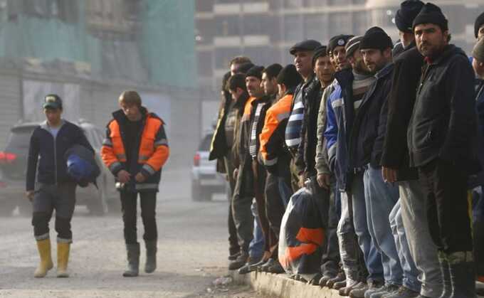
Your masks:
[[[113,119],[107,125],[107,136],[101,149],[102,161],[117,174],[124,169],[127,162],[125,146],[122,143],[120,124]],[[142,164],[142,173],[151,176],[162,169],[169,156],[169,147],[166,135],[164,134],[163,121],[158,117],[147,114],[146,122],[138,152],[138,164]]]

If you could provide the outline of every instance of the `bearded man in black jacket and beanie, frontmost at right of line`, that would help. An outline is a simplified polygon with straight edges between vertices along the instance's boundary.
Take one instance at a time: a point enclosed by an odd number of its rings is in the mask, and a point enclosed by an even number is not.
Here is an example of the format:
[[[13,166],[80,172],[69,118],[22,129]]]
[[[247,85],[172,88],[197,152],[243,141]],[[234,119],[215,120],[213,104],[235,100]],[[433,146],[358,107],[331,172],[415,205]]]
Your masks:
[[[413,28],[426,65],[409,124],[410,164],[419,168],[441,267],[451,273],[443,282],[451,282],[452,297],[475,297],[467,200],[468,175],[478,171],[475,77],[463,50],[449,44],[448,21],[438,6],[423,6]]]

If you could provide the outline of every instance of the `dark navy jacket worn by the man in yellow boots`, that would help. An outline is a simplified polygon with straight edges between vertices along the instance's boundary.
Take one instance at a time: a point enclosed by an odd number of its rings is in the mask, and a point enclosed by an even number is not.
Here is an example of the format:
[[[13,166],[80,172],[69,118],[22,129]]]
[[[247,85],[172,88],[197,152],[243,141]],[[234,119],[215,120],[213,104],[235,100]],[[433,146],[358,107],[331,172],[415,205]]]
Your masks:
[[[37,181],[45,184],[74,182],[67,174],[65,152],[79,144],[94,154],[94,149],[77,125],[62,120],[56,139],[48,131],[47,122],[33,130],[28,147],[26,190],[33,191]]]

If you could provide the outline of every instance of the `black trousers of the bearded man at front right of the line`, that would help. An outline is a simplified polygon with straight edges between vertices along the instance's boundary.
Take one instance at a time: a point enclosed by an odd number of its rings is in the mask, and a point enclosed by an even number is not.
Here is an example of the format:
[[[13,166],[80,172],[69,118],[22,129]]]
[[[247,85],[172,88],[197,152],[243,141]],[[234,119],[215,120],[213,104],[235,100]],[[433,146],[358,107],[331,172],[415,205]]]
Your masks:
[[[428,199],[428,225],[438,250],[446,253],[473,251],[468,174],[437,158],[419,168],[419,179]]]

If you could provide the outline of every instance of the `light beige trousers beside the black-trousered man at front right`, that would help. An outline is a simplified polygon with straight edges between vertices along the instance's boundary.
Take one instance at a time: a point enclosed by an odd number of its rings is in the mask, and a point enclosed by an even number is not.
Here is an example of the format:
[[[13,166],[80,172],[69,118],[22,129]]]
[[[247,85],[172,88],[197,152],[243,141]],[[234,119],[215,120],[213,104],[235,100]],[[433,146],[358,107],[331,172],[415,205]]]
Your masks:
[[[426,197],[419,181],[401,181],[399,184],[401,219],[404,220],[411,257],[419,270],[420,294],[438,298],[443,289],[441,267],[437,246],[428,228]]]

